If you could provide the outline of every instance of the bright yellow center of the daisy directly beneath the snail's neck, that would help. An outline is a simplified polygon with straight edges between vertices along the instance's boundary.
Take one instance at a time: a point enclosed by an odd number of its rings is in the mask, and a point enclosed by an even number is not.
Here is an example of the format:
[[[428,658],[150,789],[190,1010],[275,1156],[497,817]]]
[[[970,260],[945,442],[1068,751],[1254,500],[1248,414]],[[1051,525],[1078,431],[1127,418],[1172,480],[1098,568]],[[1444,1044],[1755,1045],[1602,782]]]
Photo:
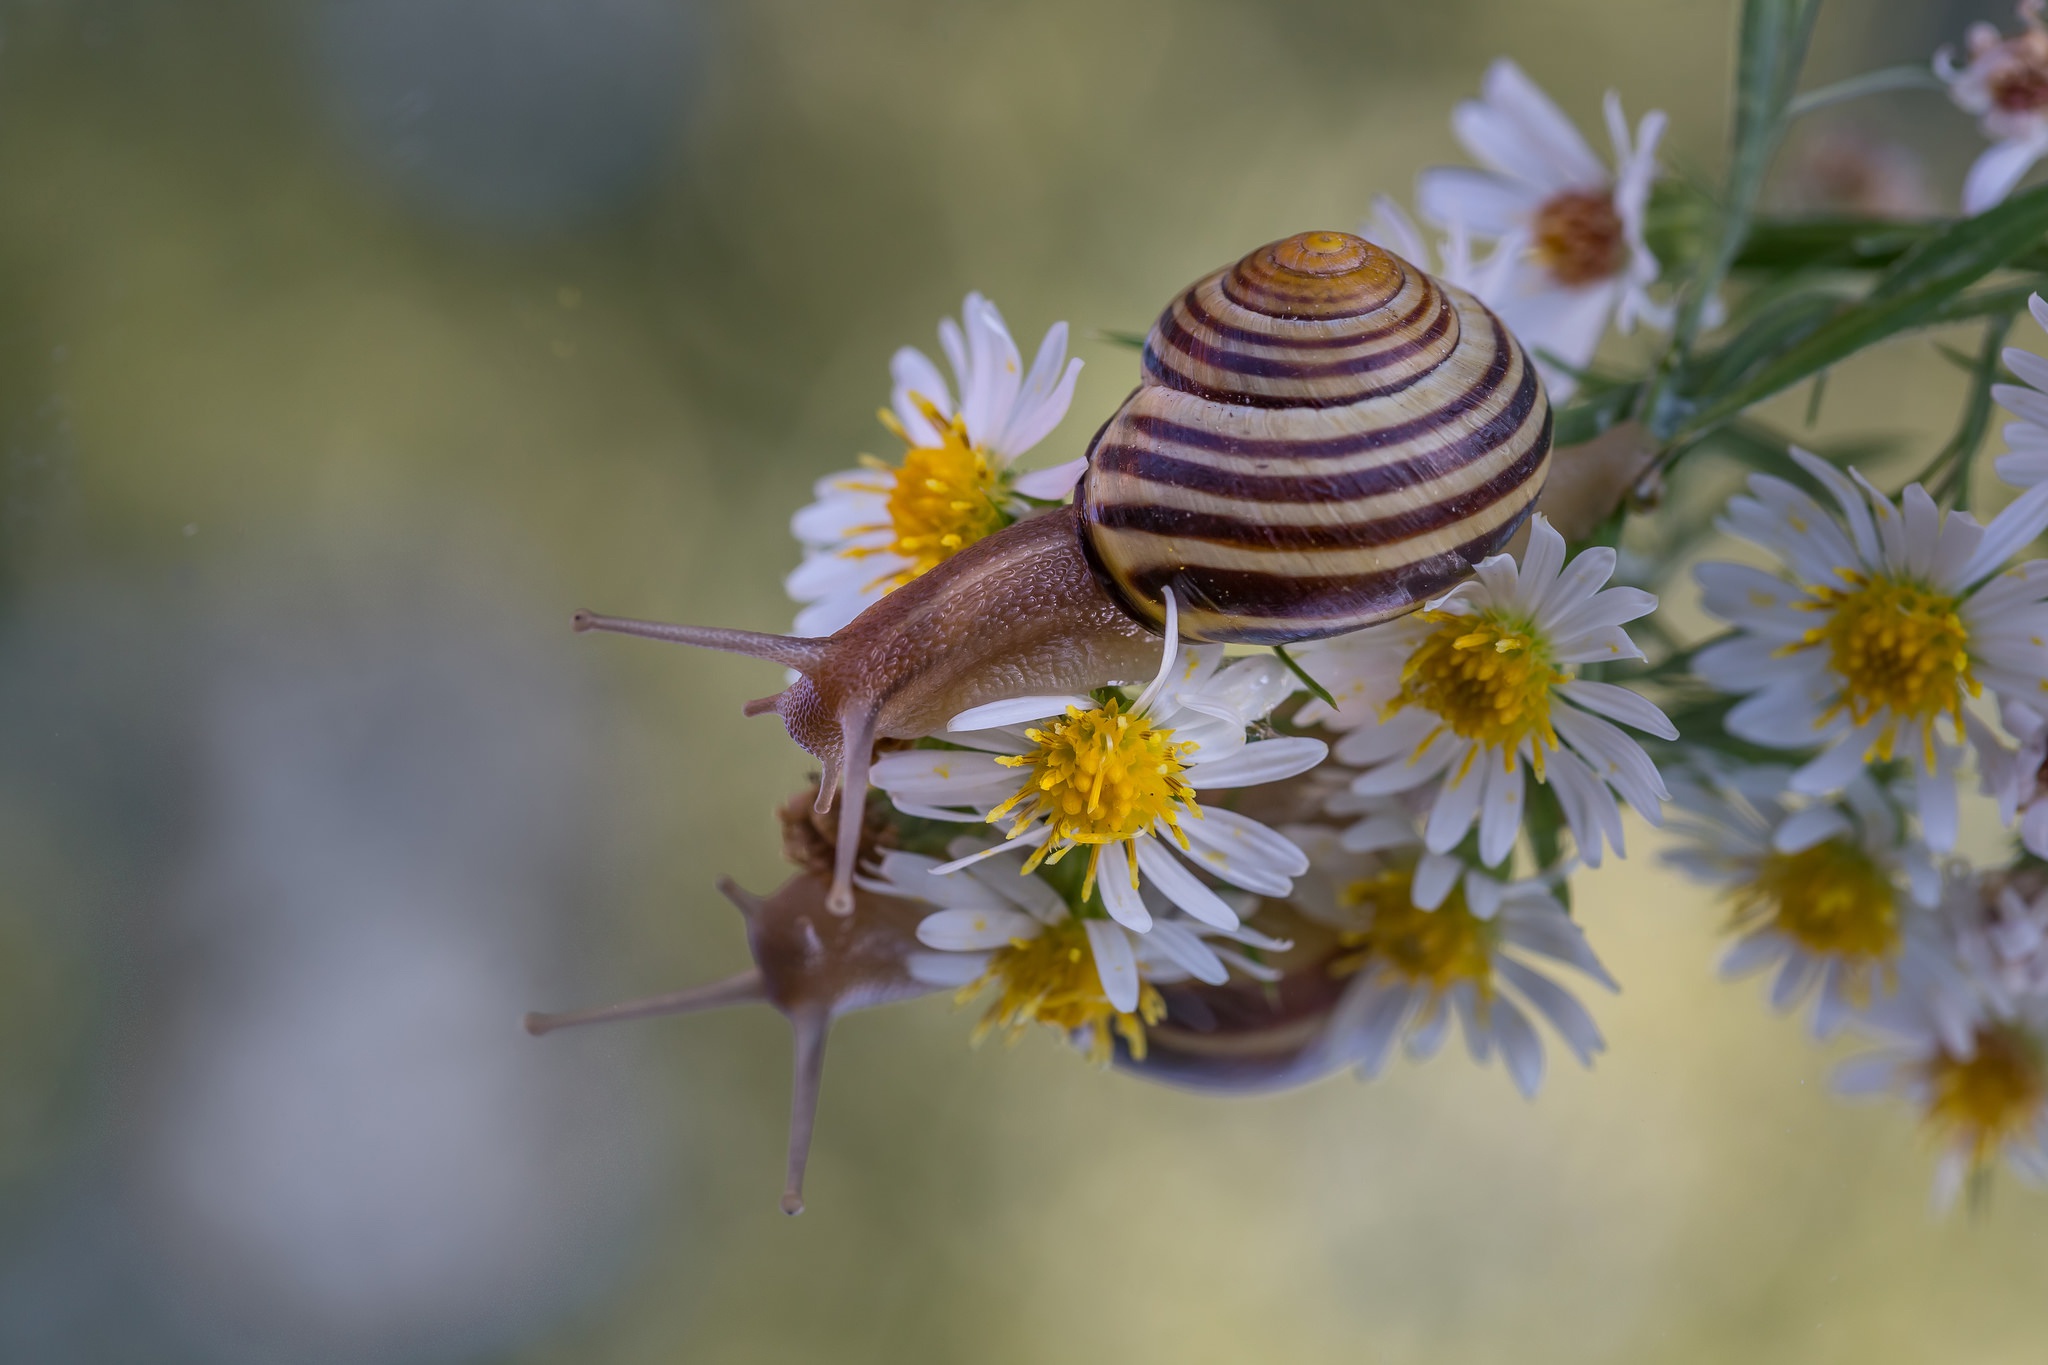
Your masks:
[[[1044,821],[1053,835],[1024,864],[1059,862],[1067,849],[1092,845],[1081,896],[1096,888],[1096,860],[1104,843],[1122,843],[1141,833],[1165,831],[1188,847],[1180,814],[1200,819],[1194,788],[1180,776],[1194,751],[1192,741],[1176,741],[1122,702],[1108,700],[1096,710],[1069,706],[1067,714],[1040,729],[1024,731],[1030,753],[995,759],[1006,767],[1028,767],[1030,778],[1016,796],[989,810],[989,821],[1016,814],[1010,837]],[[1137,862],[1130,864],[1137,884]]]

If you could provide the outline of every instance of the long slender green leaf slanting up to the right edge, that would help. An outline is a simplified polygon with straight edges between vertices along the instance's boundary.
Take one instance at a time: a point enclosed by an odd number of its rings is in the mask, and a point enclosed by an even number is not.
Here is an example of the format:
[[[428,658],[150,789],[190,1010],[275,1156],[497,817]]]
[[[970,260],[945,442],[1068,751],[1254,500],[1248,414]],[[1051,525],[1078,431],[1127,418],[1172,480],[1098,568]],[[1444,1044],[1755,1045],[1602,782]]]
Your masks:
[[[2048,233],[2048,186],[2015,194],[1997,209],[1950,225],[1886,270],[1862,301],[1794,342],[1733,391],[1706,403],[1677,430],[1692,436],[1790,389],[1866,346],[1911,327],[1952,321],[1942,307],[2011,262]]]

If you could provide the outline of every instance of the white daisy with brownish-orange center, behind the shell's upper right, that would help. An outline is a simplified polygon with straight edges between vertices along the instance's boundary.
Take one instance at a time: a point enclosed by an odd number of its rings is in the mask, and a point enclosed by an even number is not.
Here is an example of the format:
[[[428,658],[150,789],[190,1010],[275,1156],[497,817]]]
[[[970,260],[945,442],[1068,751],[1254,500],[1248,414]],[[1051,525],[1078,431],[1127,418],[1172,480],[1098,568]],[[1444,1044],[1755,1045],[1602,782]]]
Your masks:
[[[1669,325],[1649,287],[1657,258],[1642,239],[1663,111],[1642,117],[1630,135],[1622,98],[1608,92],[1614,170],[1599,160],[1571,119],[1505,57],[1487,68],[1481,98],[1464,100],[1450,125],[1485,170],[1434,166],[1417,180],[1425,219],[1493,237],[1516,262],[1489,305],[1532,352],[1583,368],[1612,319],[1630,332],[1636,319]],[[1544,366],[1552,397],[1571,397],[1569,375]]]

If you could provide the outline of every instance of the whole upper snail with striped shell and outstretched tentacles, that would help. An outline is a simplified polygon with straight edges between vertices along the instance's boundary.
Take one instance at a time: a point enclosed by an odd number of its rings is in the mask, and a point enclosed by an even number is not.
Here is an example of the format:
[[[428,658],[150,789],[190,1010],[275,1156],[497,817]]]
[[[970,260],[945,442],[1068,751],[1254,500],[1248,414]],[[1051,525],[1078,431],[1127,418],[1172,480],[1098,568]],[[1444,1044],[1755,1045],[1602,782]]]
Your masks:
[[[1196,280],[1096,432],[1075,501],[1014,522],[829,639],[580,612],[578,630],[797,669],[776,712],[842,825],[879,739],[1012,696],[1151,673],[1186,641],[1286,645],[1413,610],[1501,548],[1550,469],[1550,405],[1501,321],[1362,237],[1311,231]],[[854,907],[854,839],[827,905]]]

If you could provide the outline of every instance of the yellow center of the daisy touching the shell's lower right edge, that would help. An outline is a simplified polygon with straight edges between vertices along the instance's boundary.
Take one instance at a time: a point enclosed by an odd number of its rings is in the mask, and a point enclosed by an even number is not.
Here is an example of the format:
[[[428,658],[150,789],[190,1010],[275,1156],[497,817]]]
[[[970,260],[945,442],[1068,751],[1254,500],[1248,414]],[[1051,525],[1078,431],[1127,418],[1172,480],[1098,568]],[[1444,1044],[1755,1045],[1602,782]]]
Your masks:
[[[1448,729],[1462,739],[1497,745],[1509,765],[1522,741],[1532,739],[1530,763],[1540,780],[1544,749],[1556,747],[1550,688],[1571,679],[1550,661],[1548,643],[1532,622],[1505,612],[1417,612],[1417,620],[1434,622],[1436,630],[1409,655],[1401,692],[1386,704],[1386,714],[1421,706],[1442,720],[1430,739]]]

